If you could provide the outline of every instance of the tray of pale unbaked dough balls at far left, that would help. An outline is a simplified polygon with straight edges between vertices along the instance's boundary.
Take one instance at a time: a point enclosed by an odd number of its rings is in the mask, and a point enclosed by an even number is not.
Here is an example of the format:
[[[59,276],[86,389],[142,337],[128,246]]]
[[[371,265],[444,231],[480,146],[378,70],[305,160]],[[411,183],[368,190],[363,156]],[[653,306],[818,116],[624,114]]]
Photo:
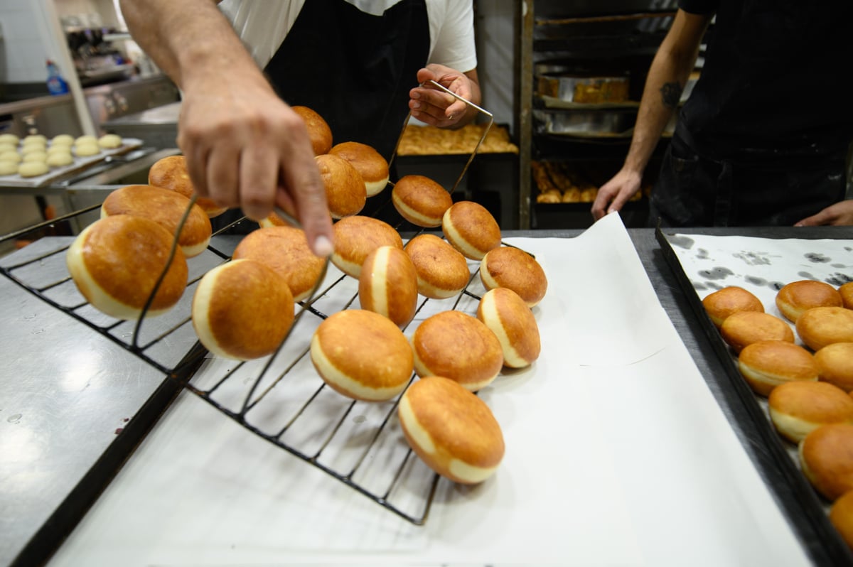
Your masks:
[[[142,146],[142,140],[116,134],[48,138],[33,134],[19,138],[0,135],[0,187],[43,187],[82,171],[111,155]]]

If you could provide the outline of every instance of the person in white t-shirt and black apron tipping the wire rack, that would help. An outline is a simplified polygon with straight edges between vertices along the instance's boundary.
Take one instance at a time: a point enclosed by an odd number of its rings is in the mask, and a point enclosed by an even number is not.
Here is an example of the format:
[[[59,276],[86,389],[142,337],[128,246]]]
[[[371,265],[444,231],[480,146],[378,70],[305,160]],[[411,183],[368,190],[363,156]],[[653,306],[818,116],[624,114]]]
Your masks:
[[[332,252],[331,219],[292,106],[319,113],[335,141],[366,143],[386,159],[409,108],[444,128],[476,116],[419,87],[432,79],[479,104],[471,0],[241,0],[223,10],[212,0],[121,0],[121,8],[133,38],[182,90],[177,143],[196,191],[253,220],[274,205],[293,211],[319,255]]]

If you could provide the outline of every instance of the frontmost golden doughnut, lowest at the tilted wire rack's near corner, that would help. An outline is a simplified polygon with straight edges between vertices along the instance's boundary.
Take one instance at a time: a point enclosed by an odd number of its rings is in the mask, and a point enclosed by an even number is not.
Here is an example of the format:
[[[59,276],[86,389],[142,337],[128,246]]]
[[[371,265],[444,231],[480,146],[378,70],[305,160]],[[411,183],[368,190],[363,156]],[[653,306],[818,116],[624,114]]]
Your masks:
[[[433,471],[456,483],[485,481],[503,459],[503,433],[489,407],[450,379],[420,379],[397,408],[409,446]]]

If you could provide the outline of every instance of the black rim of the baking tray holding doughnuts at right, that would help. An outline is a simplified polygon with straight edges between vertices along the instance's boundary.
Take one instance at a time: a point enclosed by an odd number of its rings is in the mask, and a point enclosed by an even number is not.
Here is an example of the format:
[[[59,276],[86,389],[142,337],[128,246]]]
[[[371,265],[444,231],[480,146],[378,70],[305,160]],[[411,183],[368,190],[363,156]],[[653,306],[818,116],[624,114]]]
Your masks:
[[[749,431],[750,443],[758,452],[764,454],[769,464],[774,467],[775,476],[780,482],[769,482],[769,489],[777,502],[785,510],[786,516],[804,543],[809,556],[815,564],[853,565],[853,553],[844,542],[838,531],[827,518],[825,504],[809,481],[800,472],[788,453],[779,434],[775,431],[767,414],[757,401],[754,392],[741,377],[740,370],[734,362],[734,357],[728,345],[722,340],[717,327],[705,313],[705,308],[699,295],[693,289],[693,284],[682,269],[676,252],[670,245],[669,236],[674,234],[718,234],[755,236],[759,238],[798,238],[798,239],[850,239],[853,229],[827,227],[821,229],[656,229],[655,239],[658,241],[665,262],[675,275],[678,285],[687,298],[690,308],[695,315],[705,335],[707,343],[717,356],[717,362],[722,367],[726,385],[734,392],[740,408],[734,414],[734,419],[740,423],[740,428]],[[765,477],[767,470],[762,471]]]

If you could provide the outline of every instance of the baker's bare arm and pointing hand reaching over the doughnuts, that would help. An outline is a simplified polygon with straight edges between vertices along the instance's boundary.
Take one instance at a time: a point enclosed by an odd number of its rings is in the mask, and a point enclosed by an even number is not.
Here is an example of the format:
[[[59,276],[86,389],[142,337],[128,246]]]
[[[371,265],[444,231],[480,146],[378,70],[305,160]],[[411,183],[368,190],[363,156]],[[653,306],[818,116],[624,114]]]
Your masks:
[[[252,219],[295,213],[332,251],[325,189],[305,123],[272,90],[211,0],[121,0],[131,35],[183,91],[177,144],[196,191]]]

